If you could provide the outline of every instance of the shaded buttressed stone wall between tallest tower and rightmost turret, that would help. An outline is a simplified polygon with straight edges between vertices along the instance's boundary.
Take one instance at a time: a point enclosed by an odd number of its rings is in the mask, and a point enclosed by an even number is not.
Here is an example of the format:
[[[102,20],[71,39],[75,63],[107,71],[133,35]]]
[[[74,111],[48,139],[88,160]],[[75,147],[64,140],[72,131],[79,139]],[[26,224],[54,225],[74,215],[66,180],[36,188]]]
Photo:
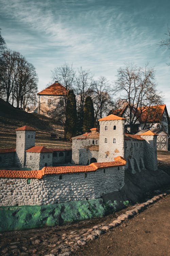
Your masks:
[[[132,173],[140,172],[145,168],[144,165],[144,140],[125,140],[124,157],[126,159],[126,168]]]

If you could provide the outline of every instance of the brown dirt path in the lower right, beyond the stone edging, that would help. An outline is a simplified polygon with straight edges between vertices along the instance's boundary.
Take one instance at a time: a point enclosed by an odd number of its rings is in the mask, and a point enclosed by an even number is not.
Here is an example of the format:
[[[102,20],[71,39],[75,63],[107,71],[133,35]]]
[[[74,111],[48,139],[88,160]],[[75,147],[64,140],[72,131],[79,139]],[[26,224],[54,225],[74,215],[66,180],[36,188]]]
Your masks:
[[[170,255],[170,195],[90,241],[74,256]]]

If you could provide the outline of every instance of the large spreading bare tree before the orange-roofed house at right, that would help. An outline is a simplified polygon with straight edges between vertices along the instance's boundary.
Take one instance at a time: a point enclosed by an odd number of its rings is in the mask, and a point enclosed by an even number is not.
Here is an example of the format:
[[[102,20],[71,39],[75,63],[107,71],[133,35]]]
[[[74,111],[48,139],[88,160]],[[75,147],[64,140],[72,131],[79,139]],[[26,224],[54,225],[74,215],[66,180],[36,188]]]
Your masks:
[[[155,71],[148,64],[144,69],[126,64],[125,68],[118,69],[117,77],[114,92],[129,106],[130,132],[133,133],[134,125],[145,111],[147,123],[150,106],[162,104],[161,94],[156,90]]]

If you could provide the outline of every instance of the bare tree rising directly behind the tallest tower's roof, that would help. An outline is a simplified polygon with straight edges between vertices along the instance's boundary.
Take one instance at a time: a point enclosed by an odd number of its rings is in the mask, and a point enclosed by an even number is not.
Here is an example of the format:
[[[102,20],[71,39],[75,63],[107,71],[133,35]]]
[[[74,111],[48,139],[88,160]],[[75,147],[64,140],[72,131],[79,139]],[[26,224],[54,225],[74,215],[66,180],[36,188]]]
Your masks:
[[[114,102],[112,100],[112,93],[113,90],[106,77],[100,76],[98,80],[94,81],[94,94],[92,99],[94,102],[96,122],[113,109]]]

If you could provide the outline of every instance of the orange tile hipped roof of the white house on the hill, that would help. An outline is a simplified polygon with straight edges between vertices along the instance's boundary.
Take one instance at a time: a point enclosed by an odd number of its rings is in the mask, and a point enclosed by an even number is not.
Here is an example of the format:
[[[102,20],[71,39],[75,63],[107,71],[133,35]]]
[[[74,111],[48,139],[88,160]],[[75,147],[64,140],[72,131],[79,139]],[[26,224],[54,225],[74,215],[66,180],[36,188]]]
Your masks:
[[[66,93],[67,93],[66,88],[57,82],[57,83],[50,85],[46,89],[40,91],[37,95],[60,96],[60,95],[66,95]]]

